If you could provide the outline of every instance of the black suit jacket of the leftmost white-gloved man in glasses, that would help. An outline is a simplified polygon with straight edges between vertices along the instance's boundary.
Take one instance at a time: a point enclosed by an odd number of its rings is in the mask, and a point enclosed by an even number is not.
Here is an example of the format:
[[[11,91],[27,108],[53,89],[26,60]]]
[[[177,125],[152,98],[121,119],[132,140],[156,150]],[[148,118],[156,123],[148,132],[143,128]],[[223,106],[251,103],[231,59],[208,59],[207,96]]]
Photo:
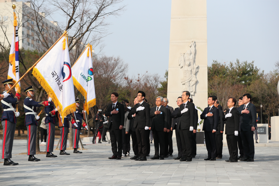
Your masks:
[[[134,127],[136,128],[137,125],[139,125],[139,128],[145,128],[145,126],[150,127],[150,106],[148,103],[143,101],[141,104],[141,107],[144,107],[142,111],[137,111],[137,108],[139,107],[139,103],[135,105],[135,109],[131,110],[129,115],[136,114],[135,121],[134,121]]]

